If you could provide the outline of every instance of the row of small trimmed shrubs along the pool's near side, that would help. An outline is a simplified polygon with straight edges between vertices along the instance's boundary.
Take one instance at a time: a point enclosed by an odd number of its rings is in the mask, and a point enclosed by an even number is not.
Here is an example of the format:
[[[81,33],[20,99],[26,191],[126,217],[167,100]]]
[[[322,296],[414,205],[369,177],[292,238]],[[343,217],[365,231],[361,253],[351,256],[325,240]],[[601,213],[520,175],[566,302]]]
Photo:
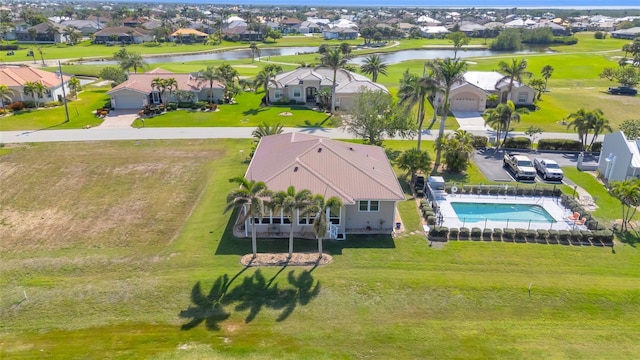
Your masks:
[[[613,231],[611,230],[527,230],[516,229],[471,229],[447,228],[446,226],[432,226],[429,230],[431,240],[484,240],[504,242],[538,242],[545,244],[572,245],[612,245]]]

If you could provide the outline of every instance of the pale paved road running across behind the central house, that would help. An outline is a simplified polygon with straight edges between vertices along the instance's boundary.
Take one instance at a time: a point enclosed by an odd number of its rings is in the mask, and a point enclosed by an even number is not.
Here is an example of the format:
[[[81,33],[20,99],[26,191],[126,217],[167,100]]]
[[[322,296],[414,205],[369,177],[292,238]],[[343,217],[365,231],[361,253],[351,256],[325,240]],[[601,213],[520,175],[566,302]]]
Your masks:
[[[189,128],[91,128],[73,130],[28,130],[1,131],[0,142],[57,142],[57,141],[100,141],[100,140],[148,140],[148,139],[248,139],[251,138],[253,127],[189,127]],[[354,136],[342,129],[330,128],[284,128],[284,132],[302,132],[307,134],[326,136],[332,139],[353,139]],[[447,131],[450,132],[450,131]],[[471,131],[475,135],[495,136],[489,130]],[[424,140],[435,140],[438,131],[424,131]],[[513,136],[523,136],[515,132]],[[542,133],[539,138],[564,138],[578,140],[577,134],[571,133]]]

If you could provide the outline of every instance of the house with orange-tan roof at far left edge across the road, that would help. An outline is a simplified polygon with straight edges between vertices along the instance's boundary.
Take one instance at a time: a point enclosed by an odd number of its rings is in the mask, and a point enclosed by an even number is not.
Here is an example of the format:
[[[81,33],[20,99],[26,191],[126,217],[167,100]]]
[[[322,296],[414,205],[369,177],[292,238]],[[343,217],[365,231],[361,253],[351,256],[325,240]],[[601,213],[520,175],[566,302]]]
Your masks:
[[[62,101],[63,92],[69,94],[70,91],[69,79],[70,77],[67,75],[60,78],[56,73],[26,65],[0,65],[0,83],[8,86],[10,91],[8,103],[15,101],[37,101],[38,103]],[[39,82],[47,90],[41,97],[25,95],[24,86],[27,82]]]

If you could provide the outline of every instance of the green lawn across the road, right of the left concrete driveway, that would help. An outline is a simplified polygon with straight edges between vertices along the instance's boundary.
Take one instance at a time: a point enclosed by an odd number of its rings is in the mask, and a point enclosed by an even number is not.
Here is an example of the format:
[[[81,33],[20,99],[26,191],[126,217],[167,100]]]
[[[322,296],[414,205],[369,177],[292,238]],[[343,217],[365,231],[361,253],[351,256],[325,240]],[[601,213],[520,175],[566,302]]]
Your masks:
[[[260,107],[263,93],[242,93],[236,97],[237,103],[219,106],[217,112],[193,110],[171,111],[145,119],[146,127],[190,127],[190,126],[248,126],[256,127],[262,122],[280,123],[290,127],[332,127],[335,126],[329,114],[311,110],[305,106],[268,106]],[[283,116],[290,113],[291,116]],[[142,123],[136,120],[133,126]]]

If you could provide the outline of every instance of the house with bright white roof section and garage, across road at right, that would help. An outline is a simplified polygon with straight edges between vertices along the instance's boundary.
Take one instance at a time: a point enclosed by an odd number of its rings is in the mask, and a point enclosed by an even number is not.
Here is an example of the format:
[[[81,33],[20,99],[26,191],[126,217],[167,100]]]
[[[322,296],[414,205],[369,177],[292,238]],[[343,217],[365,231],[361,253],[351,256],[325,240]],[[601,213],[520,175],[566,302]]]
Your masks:
[[[436,96],[436,103],[442,103],[442,95]],[[532,105],[536,91],[517,81],[513,82],[509,98],[509,80],[495,71],[468,71],[464,80],[455,83],[449,92],[449,108],[452,111],[484,111],[488,95],[498,95],[499,101],[513,101],[516,105]]]

